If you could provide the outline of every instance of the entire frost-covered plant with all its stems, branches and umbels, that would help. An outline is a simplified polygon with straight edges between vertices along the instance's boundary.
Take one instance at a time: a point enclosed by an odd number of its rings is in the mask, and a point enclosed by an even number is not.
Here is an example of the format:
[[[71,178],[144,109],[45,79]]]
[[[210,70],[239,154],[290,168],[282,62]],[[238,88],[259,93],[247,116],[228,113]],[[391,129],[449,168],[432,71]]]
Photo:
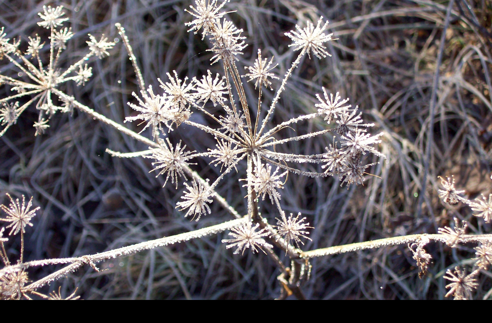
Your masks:
[[[89,54],[80,61],[68,67],[65,71],[57,68],[58,59],[65,42],[72,36],[71,30],[61,26],[68,18],[64,17],[63,8],[44,7],[44,13],[40,13],[42,21],[40,27],[51,30],[50,36],[50,62],[44,66],[39,57],[39,50],[44,45],[41,39],[31,39],[27,52],[22,53],[18,50],[20,40],[6,38],[3,29],[0,32],[0,55],[16,65],[30,79],[30,82],[20,81],[14,78],[0,75],[3,84],[12,86],[11,90],[17,94],[0,99],[1,108],[0,121],[4,129],[15,124],[19,115],[32,102],[40,110],[39,120],[34,125],[36,133],[39,134],[48,127],[46,116],[49,118],[57,111],[68,111],[70,108],[78,108],[94,119],[102,121],[124,134],[130,135],[149,146],[148,150],[141,152],[114,152],[107,150],[115,157],[138,157],[143,156],[153,160],[152,164],[156,176],[165,176],[164,185],[171,178],[171,184],[178,188],[179,183],[184,185],[184,194],[180,201],[176,203],[176,208],[183,211],[184,217],[189,217],[199,221],[202,216],[211,214],[210,204],[215,200],[223,209],[233,215],[236,219],[224,222],[216,226],[209,226],[202,229],[184,232],[174,236],[160,238],[135,244],[128,247],[114,249],[94,255],[86,255],[76,258],[64,259],[45,259],[30,262],[23,262],[22,256],[18,264],[11,264],[6,258],[3,248],[5,238],[1,237],[3,228],[0,231],[0,241],[2,247],[2,260],[5,267],[0,270],[1,297],[3,298],[29,298],[30,294],[42,295],[36,290],[56,279],[64,277],[68,272],[75,271],[85,264],[98,270],[95,263],[109,258],[121,257],[143,250],[148,250],[160,246],[170,245],[200,238],[206,235],[215,234],[224,230],[230,230],[232,239],[223,239],[225,248],[236,248],[234,254],[244,254],[246,249],[253,253],[258,249],[271,257],[277,265],[280,275],[280,297],[288,294],[295,294],[298,298],[303,298],[301,280],[309,277],[309,259],[332,254],[345,253],[355,250],[372,249],[387,245],[408,244],[412,250],[413,258],[421,270],[421,276],[427,272],[431,262],[431,255],[424,249],[430,241],[440,241],[451,247],[456,247],[464,242],[479,242],[477,247],[477,266],[488,268],[491,264],[491,244],[490,235],[471,236],[465,234],[466,225],[459,227],[456,221],[455,228],[444,227],[438,234],[402,236],[375,241],[356,243],[345,246],[334,246],[312,251],[302,251],[303,240],[309,239],[310,229],[316,229],[306,222],[306,218],[298,213],[296,217],[291,213],[286,216],[282,205],[282,189],[289,174],[302,175],[309,177],[337,176],[341,182],[340,186],[363,184],[365,176],[368,175],[368,168],[376,162],[367,160],[382,160],[385,158],[377,150],[377,144],[381,143],[383,133],[371,135],[369,129],[374,126],[372,123],[364,123],[361,118],[362,112],[358,106],[352,107],[348,104],[349,99],[342,99],[339,93],[335,95],[328,93],[322,88],[322,95],[316,95],[318,103],[312,107],[312,112],[299,115],[295,118],[285,120],[277,125],[272,125],[272,116],[277,108],[277,103],[281,98],[287,82],[290,80],[293,71],[300,65],[302,59],[307,56],[312,59],[311,54],[317,59],[331,56],[327,52],[326,43],[333,40],[332,34],[327,33],[328,22],[320,17],[316,26],[307,21],[306,27],[295,26],[296,31],[286,32],[285,35],[292,40],[289,47],[294,47],[294,51],[299,52],[297,58],[291,63],[281,81],[276,76],[274,58],[262,57],[261,49],[256,51],[257,58],[253,65],[246,66],[247,73],[241,75],[238,67],[238,55],[243,55],[243,50],[248,45],[242,29],[237,29],[229,21],[226,15],[230,12],[221,11],[226,1],[218,3],[217,0],[196,0],[195,6],[190,6],[188,11],[194,19],[186,23],[188,32],[202,32],[202,39],[208,37],[212,52],[211,64],[221,64],[223,75],[208,70],[206,75],[201,78],[187,77],[181,79],[177,71],[166,73],[167,78],[157,79],[160,90],[151,85],[146,87],[137,60],[132,48],[125,35],[124,29],[120,24],[116,24],[123,43],[128,51],[131,63],[134,67],[140,87],[139,94],[133,93],[136,103],[128,102],[128,105],[136,111],[136,115],[128,116],[124,122],[144,123],[145,126],[140,133],[135,133],[131,129],[124,127],[96,112],[91,108],[76,101],[62,92],[60,86],[69,80],[75,81],[78,85],[84,83],[92,75],[91,67],[85,62],[91,56],[103,58],[109,55],[108,51],[114,43],[108,42],[102,37],[97,41],[92,35],[87,41]],[[32,64],[28,57],[31,56],[37,62],[37,66]],[[258,91],[257,102],[248,102],[245,95],[245,84],[242,80],[255,82],[255,90]],[[265,98],[263,88],[276,88],[273,100],[265,109],[262,101]],[[22,105],[15,99],[27,97],[28,102]],[[58,106],[54,97],[62,106]],[[207,103],[210,104],[207,105]],[[212,113],[209,106],[218,105],[219,112]],[[215,122],[213,126],[199,124],[190,119],[192,113],[203,113]],[[319,124],[324,124],[324,129],[299,134],[292,137],[281,138],[279,133],[282,129],[289,128],[294,124],[307,120],[320,119]],[[180,141],[173,144],[167,131],[179,131],[180,125],[196,127],[210,134],[216,140],[214,149],[204,152],[188,151],[186,145]],[[143,136],[147,133],[144,130],[150,129],[150,138]],[[283,144],[316,139],[320,136],[330,135],[333,137],[332,144],[326,147],[326,152],[315,155],[303,155],[301,152],[279,153],[276,147]],[[370,156],[370,158],[368,158]],[[190,168],[194,164],[193,159],[205,158],[211,165],[217,168],[217,176],[211,179],[204,179],[197,172]],[[312,168],[318,167],[319,171],[306,171],[305,164],[313,164]],[[243,167],[238,167],[243,165]],[[215,188],[220,182],[234,169],[240,173],[238,186],[246,188],[247,211],[245,216],[240,214],[229,205],[229,203],[217,192]],[[246,171],[244,171],[246,169]],[[241,173],[243,172],[243,173]],[[292,175],[290,175],[292,176]],[[442,180],[444,190],[440,191],[441,197],[450,203],[465,201],[454,188],[454,181],[450,179],[446,182]],[[9,195],[10,197],[10,195]],[[258,203],[265,198],[275,205],[278,214],[264,216],[259,212]],[[478,211],[479,216],[485,221],[491,220],[491,198],[489,201],[484,197],[477,199],[477,202],[469,201],[472,210]],[[30,219],[35,210],[29,211],[31,201],[25,206],[23,198],[22,206],[19,201],[14,203],[11,199],[9,207],[3,206],[2,209],[7,213],[7,218],[0,219],[10,221],[8,227],[12,227],[10,233],[21,232],[23,241],[24,227],[30,224]],[[276,225],[270,222],[276,221]],[[280,249],[280,254],[285,253],[289,258],[290,267],[284,264],[279,258],[274,245]],[[22,254],[22,252],[21,252]],[[278,255],[277,255],[278,254]],[[49,265],[57,263],[68,263],[68,265],[47,277],[28,285],[26,269],[31,266]],[[455,273],[448,271],[445,278],[453,283],[449,284],[450,292],[455,298],[470,298],[470,291],[476,287],[476,275],[478,269],[470,275],[456,268]],[[60,292],[50,294],[52,298],[60,299]],[[71,294],[67,298],[74,298]],[[75,297],[76,298],[76,297]]]

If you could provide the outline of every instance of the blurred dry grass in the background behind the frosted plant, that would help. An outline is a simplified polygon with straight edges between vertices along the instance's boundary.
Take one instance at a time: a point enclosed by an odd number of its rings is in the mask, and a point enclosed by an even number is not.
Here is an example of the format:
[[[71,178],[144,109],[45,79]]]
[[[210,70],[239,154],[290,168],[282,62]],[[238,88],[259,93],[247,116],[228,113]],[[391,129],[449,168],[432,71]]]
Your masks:
[[[242,65],[250,65],[261,48],[265,56],[275,56],[277,74],[283,75],[294,55],[283,33],[306,19],[316,21],[322,15],[330,21],[330,32],[339,38],[329,43],[332,58],[306,59],[297,69],[273,122],[300,111],[312,112],[314,95],[325,86],[359,105],[364,120],[376,124],[374,133],[385,132],[380,151],[387,160],[371,169],[381,178],[368,176],[364,186],[347,189],[333,178],[289,176],[282,192],[285,210],[302,212],[315,227],[312,242],[304,250],[436,233],[438,227],[449,226],[454,216],[470,222],[470,233],[491,232],[491,225],[477,221],[466,205],[446,206],[437,196],[439,175],[454,174],[457,187],[465,189],[468,198],[491,193],[492,188],[492,1],[454,2],[448,21],[449,1],[231,0],[226,5],[228,11],[237,10],[229,17],[248,37]],[[116,38],[114,23],[120,22],[147,84],[156,86],[157,77],[165,78],[173,69],[190,78],[207,69],[220,72],[218,64],[209,65],[212,54],[205,52],[209,48],[206,41],[186,32],[184,23],[190,16],[184,8],[191,1],[3,0],[0,25],[10,38],[20,36],[25,41],[35,32],[43,36],[44,31],[36,26],[43,4],[62,4],[71,19],[75,36],[63,58],[68,62],[82,55],[87,33]],[[126,102],[134,100],[131,92],[137,85],[122,42],[109,58],[92,66],[91,81],[65,93],[123,122],[133,113]],[[11,67],[1,62],[0,71],[8,73]],[[436,70],[439,78],[433,86]],[[252,87],[246,87],[246,95],[249,102],[256,102]],[[271,96],[267,91],[264,102]],[[199,113],[192,118],[209,122]],[[162,189],[163,179],[149,174],[153,168],[149,160],[122,160],[104,152],[106,148],[122,152],[147,149],[143,144],[77,111],[55,115],[47,134],[34,137],[36,119],[36,111],[26,111],[0,138],[3,202],[5,192],[32,195],[42,209],[28,230],[26,260],[92,254],[229,220],[213,204],[212,215],[189,222],[175,209],[182,188],[167,185]],[[307,127],[326,126],[313,122]],[[180,127],[170,137],[197,151],[214,145],[213,138],[190,127]],[[302,144],[292,142],[288,150],[321,153],[330,142],[328,136]],[[215,171],[205,160],[193,168],[202,174]],[[235,174],[229,177],[217,191],[243,213],[246,202],[238,196],[245,196],[246,191],[238,187]],[[270,203],[263,203],[262,208],[264,213],[277,212]],[[50,291],[62,286],[62,295],[68,295],[78,287],[85,299],[277,297],[279,272],[271,260],[263,254],[232,255],[220,243],[225,236],[106,261],[100,268],[108,270],[96,273],[87,267],[52,284]],[[442,275],[447,268],[467,263],[474,251],[466,245],[451,249],[431,243],[429,247],[434,262],[423,279],[418,278],[406,246],[385,247],[312,259],[311,278],[303,290],[310,299],[443,298],[446,282]],[[18,249],[11,244],[11,259]],[[31,279],[54,269],[39,268]],[[477,298],[490,298],[490,277],[480,279]]]

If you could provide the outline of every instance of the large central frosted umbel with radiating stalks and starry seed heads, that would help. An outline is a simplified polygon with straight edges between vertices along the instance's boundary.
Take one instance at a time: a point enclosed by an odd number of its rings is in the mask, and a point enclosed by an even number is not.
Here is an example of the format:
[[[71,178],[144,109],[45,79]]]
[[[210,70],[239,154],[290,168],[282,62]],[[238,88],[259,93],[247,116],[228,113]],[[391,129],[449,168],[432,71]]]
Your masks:
[[[198,221],[202,215],[207,214],[207,212],[210,213],[208,203],[211,201],[209,197],[215,194],[214,188],[232,168],[237,170],[236,164],[246,160],[246,178],[243,179],[246,184],[243,186],[248,189],[248,217],[255,219],[258,216],[256,197],[261,196],[264,200],[265,196],[268,195],[272,203],[277,206],[283,224],[287,226],[288,221],[280,205],[280,190],[287,173],[291,172],[311,177],[338,175],[342,185],[344,183],[362,184],[366,169],[374,164],[365,163],[363,160],[364,155],[371,153],[377,157],[384,158],[374,148],[374,144],[381,142],[379,139],[381,134],[371,136],[367,130],[374,125],[362,123],[358,107],[352,108],[350,104],[346,104],[348,98],[340,101],[338,93],[335,99],[333,99],[333,94],[329,98],[324,88],[325,100],[319,95],[317,96],[320,101],[320,103],[316,104],[317,112],[300,115],[268,129],[269,120],[276,109],[278,99],[281,97],[292,71],[299,65],[301,58],[306,54],[310,58],[311,52],[319,59],[329,55],[324,45],[332,39],[331,34],[325,33],[328,22],[323,22],[323,17],[321,17],[316,27],[307,22],[306,28],[296,26],[297,32],[285,33],[293,40],[291,46],[295,46],[295,50],[300,51],[300,53],[285,73],[275,98],[270,104],[270,108],[264,113],[261,104],[263,87],[271,87],[272,80],[278,79],[274,73],[274,68],[277,65],[272,66],[273,58],[270,61],[268,61],[268,58],[263,59],[261,49],[258,49],[258,58],[255,60],[254,65],[245,67],[249,73],[245,75],[239,73],[237,67],[238,58],[236,56],[243,54],[242,50],[246,47],[244,40],[246,37],[242,36],[243,30],[237,29],[231,21],[224,17],[225,13],[219,12],[219,8],[223,4],[219,5],[217,1],[196,1],[196,7],[191,6],[192,14],[196,19],[186,25],[191,27],[188,32],[197,33],[201,31],[203,38],[209,37],[212,43],[210,51],[215,54],[211,58],[212,64],[221,61],[224,76],[221,77],[217,74],[213,78],[212,72],[209,70],[202,80],[194,78],[187,83],[187,78],[184,78],[184,80],[179,79],[176,71],[173,72],[174,76],[167,73],[169,82],[164,83],[162,80],[158,80],[160,87],[163,89],[161,94],[154,95],[151,86],[147,90],[141,89],[142,98],[133,93],[133,96],[137,97],[140,104],[137,106],[129,103],[129,105],[138,114],[127,117],[125,122],[136,120],[147,122],[145,128],[152,128],[154,138],[159,135],[165,135],[164,128],[173,130],[171,128],[173,124],[179,126],[181,123],[197,127],[215,137],[217,141],[216,149],[201,154],[193,154],[194,152],[184,153],[183,151],[182,154],[179,154],[180,156],[175,157],[172,167],[165,166],[169,164],[169,158],[166,157],[164,151],[169,150],[170,153],[173,150],[175,152],[182,151],[180,144],[176,148],[161,145],[163,147],[161,154],[156,154],[155,149],[149,147],[149,149],[154,151],[152,155],[155,159],[154,164],[161,165],[158,166],[160,168],[159,174],[166,173],[166,179],[171,176],[172,182],[177,181],[177,175],[184,177],[183,173],[175,170],[180,168],[177,165],[177,161],[182,160],[184,162],[186,160],[187,163],[192,157],[211,157],[215,158],[215,166],[221,165],[221,175],[212,181],[210,187],[202,186],[195,182],[193,182],[192,186],[185,183],[189,192],[186,192],[182,197],[186,201],[179,202],[178,207],[182,210],[187,209],[186,216],[193,215]],[[123,29],[120,30],[123,31]],[[242,77],[249,77],[248,81],[255,81],[255,89],[258,89],[258,102],[254,109],[253,105],[246,100]],[[236,103],[235,95],[239,97],[238,103]],[[205,104],[208,100],[212,100],[214,105],[220,104],[223,108],[223,113],[219,116],[211,114]],[[189,115],[194,111],[202,111],[211,117],[215,120],[216,127],[213,128],[188,120]],[[334,130],[332,127],[290,138],[276,138],[279,130],[287,128],[294,123],[317,117],[324,118],[328,124],[335,119],[339,119],[337,120],[338,127],[336,128],[339,142],[334,142],[334,146],[330,148],[327,147],[327,153],[307,156],[296,153],[277,153],[272,149],[272,147],[290,141],[305,140]],[[337,151],[337,158],[333,159],[332,156],[335,151]],[[303,163],[324,164],[325,171],[307,172],[296,166]],[[283,171],[281,172],[280,169],[283,169]],[[291,236],[291,233],[289,233],[289,236]]]

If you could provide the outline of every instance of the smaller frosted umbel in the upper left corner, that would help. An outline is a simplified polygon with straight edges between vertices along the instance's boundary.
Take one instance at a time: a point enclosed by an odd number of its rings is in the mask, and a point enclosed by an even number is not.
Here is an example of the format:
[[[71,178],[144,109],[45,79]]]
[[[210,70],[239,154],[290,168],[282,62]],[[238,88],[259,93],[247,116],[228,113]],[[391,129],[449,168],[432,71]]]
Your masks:
[[[72,107],[73,97],[69,97],[60,89],[61,85],[68,81],[73,81],[77,85],[84,85],[92,76],[92,67],[87,65],[87,61],[92,56],[101,59],[109,55],[108,50],[115,43],[109,42],[104,35],[97,40],[88,34],[89,53],[80,60],[70,65],[65,70],[59,66],[60,55],[66,49],[66,42],[73,36],[71,28],[63,26],[68,21],[64,17],[65,12],[62,6],[52,8],[43,6],[43,11],[39,13],[42,21],[38,26],[49,29],[50,37],[48,42],[43,42],[41,37],[29,37],[28,49],[26,52],[19,50],[20,39],[7,38],[4,28],[0,28],[0,59],[7,59],[19,69],[19,76],[26,76],[26,80],[17,80],[0,74],[0,85],[10,85],[14,94],[9,97],[1,98],[0,121],[3,129],[0,136],[17,122],[17,118],[24,110],[35,102],[36,109],[39,110],[38,121],[34,123],[36,135],[43,133],[48,127],[48,120],[57,111],[67,112]],[[40,51],[49,44],[49,62],[43,63]],[[19,99],[24,97],[29,100],[20,105]]]

